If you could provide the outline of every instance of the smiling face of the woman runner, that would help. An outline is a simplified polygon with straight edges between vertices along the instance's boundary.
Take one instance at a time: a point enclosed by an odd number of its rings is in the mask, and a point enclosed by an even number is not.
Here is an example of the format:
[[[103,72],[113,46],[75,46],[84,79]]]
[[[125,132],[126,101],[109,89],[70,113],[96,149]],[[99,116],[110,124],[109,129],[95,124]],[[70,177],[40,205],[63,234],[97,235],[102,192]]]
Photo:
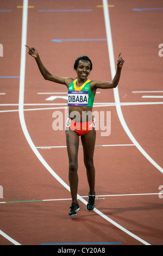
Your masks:
[[[91,72],[91,64],[88,60],[79,60],[77,75],[80,80],[87,80],[87,76],[89,76]]]

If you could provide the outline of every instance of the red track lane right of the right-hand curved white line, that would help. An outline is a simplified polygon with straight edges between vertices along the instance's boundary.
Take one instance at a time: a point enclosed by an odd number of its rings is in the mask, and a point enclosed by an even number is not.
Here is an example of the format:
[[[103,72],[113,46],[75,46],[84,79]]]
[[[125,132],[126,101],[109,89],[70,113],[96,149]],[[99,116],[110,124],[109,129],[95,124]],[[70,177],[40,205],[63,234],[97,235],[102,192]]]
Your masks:
[[[110,9],[112,40],[115,50],[123,44],[123,51],[128,60],[125,63],[126,66],[123,70],[122,86],[118,87],[120,100],[121,102],[147,102],[149,99],[142,99],[142,95],[133,94],[132,92],[161,89],[161,58],[158,56],[158,41],[161,41],[161,36],[160,28],[157,24],[162,20],[162,16],[158,11],[147,11],[143,13],[134,12],[131,5],[133,6],[135,3],[131,1],[130,4],[127,4],[126,8],[124,8],[125,19],[122,19],[122,25],[117,26],[116,16],[120,13],[122,5],[118,4],[117,1],[114,1],[114,3],[117,5],[117,9]],[[149,1],[148,6],[152,6],[153,4],[159,6],[160,3],[160,1],[155,3]],[[142,6],[141,1],[138,1],[136,4]],[[148,31],[149,28],[151,31],[150,33]],[[123,36],[126,33],[128,34],[129,40],[126,40],[126,37]],[[147,33],[149,34],[149,37],[144,36]],[[121,41],[118,40],[118,36],[121,37]],[[150,60],[151,58],[153,60],[152,62]],[[152,94],[148,93],[147,95]],[[159,100],[152,99],[151,101],[156,102]],[[142,148],[145,150],[147,149],[149,156],[152,158],[153,156],[156,157],[155,159],[159,161],[160,166],[162,167],[162,159],[160,155],[162,130],[159,125],[159,113],[162,112],[162,105],[156,106],[157,107],[154,107],[154,105],[144,107],[140,105],[140,107],[122,107],[122,112],[124,114],[124,119],[127,120],[129,129],[131,127],[131,133],[136,136],[137,141],[142,145]],[[139,115],[140,112],[141,114]],[[133,123],[134,125],[132,125]],[[142,133],[139,132],[139,129],[142,130]],[[155,153],[157,152],[157,156],[154,154],[153,150],[156,149],[154,143],[156,133],[156,136],[160,137],[160,143],[156,146],[158,149],[155,151]],[[147,143],[151,145],[151,147],[147,147]]]

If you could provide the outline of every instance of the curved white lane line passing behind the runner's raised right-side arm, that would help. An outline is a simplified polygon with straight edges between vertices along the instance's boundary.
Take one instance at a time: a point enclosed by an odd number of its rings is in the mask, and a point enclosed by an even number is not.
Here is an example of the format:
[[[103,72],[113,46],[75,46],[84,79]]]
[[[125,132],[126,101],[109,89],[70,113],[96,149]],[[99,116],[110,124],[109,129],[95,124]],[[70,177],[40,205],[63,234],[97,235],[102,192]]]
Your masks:
[[[107,7],[108,0],[103,0],[104,5],[104,18],[105,18],[105,27],[106,27],[106,36],[108,41],[108,51],[109,51],[109,60],[110,60],[110,68],[111,68],[111,77],[114,78],[116,74],[116,68],[115,68],[115,59],[114,59],[114,49],[112,45],[112,36],[111,36],[111,27],[110,27],[110,18],[109,18],[109,10]],[[131,139],[133,144],[139,149],[141,154],[146,157],[146,159],[153,164],[155,168],[160,170],[161,173],[163,173],[163,169],[157,164],[147,153],[146,151],[141,147],[141,145],[136,141],[133,134],[130,132],[126,121],[124,120],[122,109],[121,109],[121,102],[120,102],[120,96],[118,92],[118,87],[114,88],[114,98],[116,103],[116,110],[118,114],[118,118],[120,119],[121,125],[123,126],[124,131],[126,131],[128,137]]]

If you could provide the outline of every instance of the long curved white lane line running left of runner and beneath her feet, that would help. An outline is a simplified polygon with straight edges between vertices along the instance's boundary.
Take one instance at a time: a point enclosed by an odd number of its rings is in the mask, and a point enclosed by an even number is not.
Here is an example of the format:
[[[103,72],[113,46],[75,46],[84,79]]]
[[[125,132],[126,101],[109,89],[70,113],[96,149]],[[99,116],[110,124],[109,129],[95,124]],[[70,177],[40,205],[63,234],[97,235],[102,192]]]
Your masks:
[[[28,10],[28,0],[23,0],[23,31],[22,31],[22,50],[21,50],[21,72],[20,72],[20,95],[19,95],[19,117],[20,117],[20,123],[21,127],[24,133],[24,136],[27,139],[28,144],[30,145],[30,148],[32,148],[34,154],[37,156],[37,158],[40,160],[40,162],[45,166],[45,168],[51,173],[55,179],[57,179],[62,186],[64,186],[68,191],[70,191],[70,187],[54,172],[54,170],[48,165],[48,163],[43,159],[39,151],[36,149],[32,139],[30,138],[29,132],[27,130],[26,122],[24,119],[24,109],[23,109],[23,103],[24,103],[24,79],[25,79],[25,67],[26,67],[26,56],[24,57],[24,50],[23,50],[23,45],[26,44],[26,36],[27,36],[27,10]],[[26,16],[26,17],[24,17]],[[24,59],[23,59],[24,57]],[[82,201],[85,205],[87,205],[87,201],[83,199],[81,196],[78,194],[78,198],[80,201]],[[143,244],[149,245],[146,241],[143,241],[140,239],[140,237],[135,236],[133,233],[128,231],[127,229],[123,228],[121,225],[116,223],[115,221],[112,221],[110,218],[105,216],[101,211],[94,209],[94,211],[103,217],[106,221],[112,223],[115,225],[117,228],[123,230],[126,234],[134,237],[134,239],[139,240]]]

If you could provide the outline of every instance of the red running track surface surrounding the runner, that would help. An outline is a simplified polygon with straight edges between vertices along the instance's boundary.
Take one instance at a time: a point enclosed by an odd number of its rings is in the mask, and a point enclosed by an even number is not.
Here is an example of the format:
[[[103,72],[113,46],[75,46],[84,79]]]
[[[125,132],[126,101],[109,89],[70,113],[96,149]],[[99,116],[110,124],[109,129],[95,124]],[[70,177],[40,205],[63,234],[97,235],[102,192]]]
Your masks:
[[[38,94],[66,93],[66,88],[43,80],[35,60],[27,54],[24,94],[19,99],[20,78],[9,76],[20,76],[22,8],[17,7],[23,5],[23,1],[0,1],[0,4],[1,10],[10,10],[0,12],[1,77],[8,77],[0,78],[0,188],[3,188],[0,244],[121,242],[122,245],[162,245],[163,75],[162,58],[158,54],[162,42],[162,10],[153,10],[162,7],[161,0],[108,1],[109,5],[114,5],[109,8],[114,57],[116,60],[122,51],[125,59],[118,86],[121,110],[137,144],[121,125],[114,91],[99,90],[93,111],[105,114],[111,111],[111,133],[101,136],[102,130],[97,131],[96,210],[86,211],[89,188],[80,147],[80,211],[74,218],[68,216],[71,196],[67,190],[67,151],[62,147],[66,146],[65,131],[54,131],[52,127],[55,111],[60,111],[65,118],[66,100],[46,100],[52,95],[66,94]],[[111,80],[109,59],[111,62],[112,59],[106,40],[51,41],[106,39],[104,11],[103,7],[98,7],[103,1],[48,0],[45,4],[42,0],[29,0],[28,5],[27,44],[37,48],[43,64],[52,74],[75,78],[74,60],[86,54],[93,63],[90,79]],[[142,8],[152,9],[133,10]],[[72,9],[91,11],[39,11]],[[20,105],[18,112],[20,102],[24,105]],[[102,106],[102,103],[107,104]],[[61,183],[55,177],[59,177]]]

